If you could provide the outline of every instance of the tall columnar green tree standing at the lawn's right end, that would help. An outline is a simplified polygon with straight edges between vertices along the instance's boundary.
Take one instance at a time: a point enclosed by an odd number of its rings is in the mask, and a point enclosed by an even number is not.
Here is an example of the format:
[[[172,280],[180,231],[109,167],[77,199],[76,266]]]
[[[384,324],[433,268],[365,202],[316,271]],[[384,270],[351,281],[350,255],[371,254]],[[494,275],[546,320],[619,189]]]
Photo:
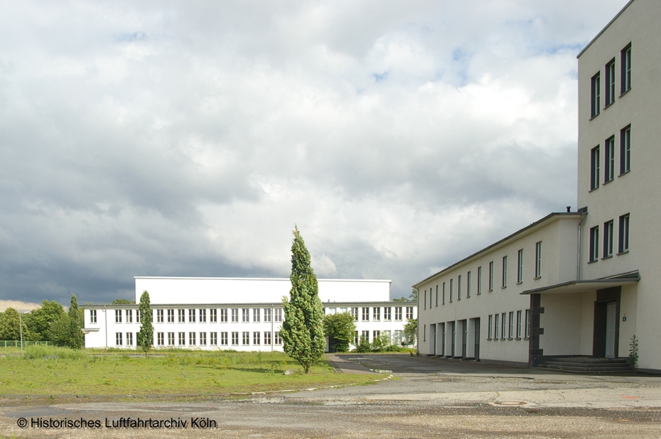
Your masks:
[[[317,276],[310,266],[305,242],[294,229],[291,244],[291,291],[282,298],[284,322],[280,330],[284,352],[303,366],[306,374],[323,355],[323,307],[319,299]]]

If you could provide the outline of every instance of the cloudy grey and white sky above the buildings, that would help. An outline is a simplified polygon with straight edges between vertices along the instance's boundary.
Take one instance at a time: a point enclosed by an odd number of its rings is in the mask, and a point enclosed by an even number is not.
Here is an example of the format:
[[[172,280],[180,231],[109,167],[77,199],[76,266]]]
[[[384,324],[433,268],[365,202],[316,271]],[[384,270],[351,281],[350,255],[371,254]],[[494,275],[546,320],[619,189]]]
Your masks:
[[[408,296],[576,210],[576,55],[625,3],[2,0],[0,304],[289,277],[295,226]]]

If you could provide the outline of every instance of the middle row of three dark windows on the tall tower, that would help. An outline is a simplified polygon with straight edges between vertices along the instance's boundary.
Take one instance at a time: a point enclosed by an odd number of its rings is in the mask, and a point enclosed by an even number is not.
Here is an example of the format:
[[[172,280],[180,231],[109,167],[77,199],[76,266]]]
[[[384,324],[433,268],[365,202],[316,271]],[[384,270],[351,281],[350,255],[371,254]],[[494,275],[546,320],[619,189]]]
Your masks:
[[[603,143],[603,184],[610,183],[615,178],[615,136]],[[631,125],[620,129],[620,175],[631,170]],[[601,145],[590,151],[590,190],[595,190],[601,184]]]

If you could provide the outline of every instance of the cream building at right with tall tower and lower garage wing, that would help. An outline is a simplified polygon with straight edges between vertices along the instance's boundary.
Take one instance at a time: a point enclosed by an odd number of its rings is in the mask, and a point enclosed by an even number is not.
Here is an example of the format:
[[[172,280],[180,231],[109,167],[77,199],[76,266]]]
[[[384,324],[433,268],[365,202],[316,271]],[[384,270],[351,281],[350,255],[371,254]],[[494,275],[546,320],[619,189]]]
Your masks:
[[[661,372],[661,1],[632,0],[579,53],[578,212],[418,282],[419,352],[535,366],[628,357]]]

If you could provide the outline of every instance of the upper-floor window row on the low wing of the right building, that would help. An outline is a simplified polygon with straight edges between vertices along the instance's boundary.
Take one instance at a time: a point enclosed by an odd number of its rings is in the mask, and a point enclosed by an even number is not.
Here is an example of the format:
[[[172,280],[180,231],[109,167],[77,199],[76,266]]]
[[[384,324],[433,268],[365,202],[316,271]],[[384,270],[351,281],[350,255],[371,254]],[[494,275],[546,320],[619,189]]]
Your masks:
[[[523,249],[520,249],[517,251],[517,283],[522,283],[523,282]],[[507,256],[503,256],[502,264],[500,266],[501,268],[501,285],[500,288],[507,288]],[[488,291],[493,291],[493,276],[494,276],[494,261],[489,262],[489,289]],[[456,300],[461,300],[461,294],[462,294],[462,276],[463,275],[458,275],[457,276],[457,283],[456,283]],[[538,279],[542,277],[542,242],[539,241],[534,244],[534,279]],[[449,293],[449,301],[452,302],[454,299],[454,278],[451,278],[450,281],[448,282],[448,293]],[[469,298],[471,297],[471,284],[472,284],[472,271],[468,271],[466,273],[466,297]],[[477,273],[477,294],[482,293],[482,267],[478,267],[478,273]],[[433,295],[433,296],[432,296]],[[423,303],[424,303],[424,309],[427,308],[427,290],[424,290],[423,293]],[[432,307],[434,299],[436,300],[436,306],[439,306],[439,286],[436,285],[436,293],[434,294],[434,290],[432,288],[429,288],[429,308]],[[446,283],[441,284],[441,305],[445,305],[446,303]]]

